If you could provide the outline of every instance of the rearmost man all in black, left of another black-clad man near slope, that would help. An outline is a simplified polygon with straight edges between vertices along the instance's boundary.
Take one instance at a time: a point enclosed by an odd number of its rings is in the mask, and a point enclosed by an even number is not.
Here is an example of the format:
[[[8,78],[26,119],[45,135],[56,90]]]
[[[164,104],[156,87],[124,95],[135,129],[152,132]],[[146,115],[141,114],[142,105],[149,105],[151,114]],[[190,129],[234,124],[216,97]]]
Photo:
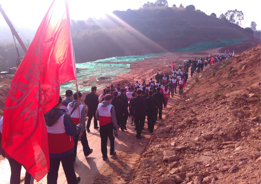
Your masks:
[[[136,124],[135,129],[137,130],[136,137],[141,138],[142,129],[144,127],[147,104],[145,99],[141,97],[142,90],[137,90],[137,97],[133,98],[130,104],[130,117],[133,118]]]

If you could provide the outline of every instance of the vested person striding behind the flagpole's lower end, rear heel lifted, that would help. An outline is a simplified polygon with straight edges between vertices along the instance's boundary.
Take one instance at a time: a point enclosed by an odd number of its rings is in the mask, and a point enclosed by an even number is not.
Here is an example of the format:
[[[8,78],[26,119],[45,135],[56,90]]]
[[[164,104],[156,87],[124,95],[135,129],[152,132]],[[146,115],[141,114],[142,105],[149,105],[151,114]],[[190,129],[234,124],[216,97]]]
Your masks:
[[[79,123],[79,107],[80,107],[80,119],[81,125],[83,129],[81,129],[80,133],[76,134],[74,138],[74,155],[73,155],[73,163],[76,162],[76,154],[77,154],[77,144],[78,140],[81,141],[83,146],[84,156],[88,157],[92,153],[92,149],[90,149],[87,135],[86,135],[86,127],[85,127],[85,108],[84,105],[81,104],[82,94],[78,92],[79,99],[77,97],[77,92],[73,94],[74,101],[68,104],[68,111],[71,115],[72,121],[77,125]],[[80,104],[78,107],[78,103]],[[79,139],[80,137],[80,139]]]

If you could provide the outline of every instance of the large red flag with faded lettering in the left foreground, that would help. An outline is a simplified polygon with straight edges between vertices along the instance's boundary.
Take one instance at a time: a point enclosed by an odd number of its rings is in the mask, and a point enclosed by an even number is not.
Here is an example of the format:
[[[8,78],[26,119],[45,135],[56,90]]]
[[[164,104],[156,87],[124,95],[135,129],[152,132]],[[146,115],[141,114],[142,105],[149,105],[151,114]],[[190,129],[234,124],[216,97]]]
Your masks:
[[[75,74],[68,5],[54,0],[11,82],[3,119],[3,149],[36,181],[50,165],[43,115],[58,103],[60,84]]]

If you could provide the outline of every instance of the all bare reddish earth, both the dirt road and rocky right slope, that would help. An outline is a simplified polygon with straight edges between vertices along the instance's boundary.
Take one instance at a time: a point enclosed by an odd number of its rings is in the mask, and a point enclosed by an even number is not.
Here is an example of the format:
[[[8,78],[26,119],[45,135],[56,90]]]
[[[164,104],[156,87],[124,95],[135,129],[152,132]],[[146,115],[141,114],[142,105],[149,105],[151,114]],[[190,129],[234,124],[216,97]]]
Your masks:
[[[126,86],[136,80],[147,82],[156,72],[170,72],[171,61],[177,67],[184,60],[205,57],[209,52],[218,53],[219,49],[167,53],[133,62],[130,64],[132,71],[116,77],[111,83]],[[99,130],[93,129],[92,122],[87,137],[94,151],[85,158],[79,143],[74,164],[81,182],[260,183],[260,45],[244,53],[222,70],[218,71],[221,63],[207,66],[199,82],[189,78],[185,93],[169,99],[170,108],[163,110],[164,121],[156,122],[155,129],[158,129],[152,136],[145,122],[142,139],[135,139],[134,127],[128,119],[128,131],[120,131],[115,139],[118,156],[110,157],[106,162],[101,158]],[[231,66],[234,69],[231,68],[228,75]],[[212,77],[214,69],[216,75]],[[2,77],[0,116],[12,79]],[[223,96],[213,98],[215,92]],[[1,156],[0,160],[0,174],[6,175],[4,183],[8,183],[8,162]],[[46,177],[37,183],[46,183]],[[58,183],[66,183],[61,166]]]

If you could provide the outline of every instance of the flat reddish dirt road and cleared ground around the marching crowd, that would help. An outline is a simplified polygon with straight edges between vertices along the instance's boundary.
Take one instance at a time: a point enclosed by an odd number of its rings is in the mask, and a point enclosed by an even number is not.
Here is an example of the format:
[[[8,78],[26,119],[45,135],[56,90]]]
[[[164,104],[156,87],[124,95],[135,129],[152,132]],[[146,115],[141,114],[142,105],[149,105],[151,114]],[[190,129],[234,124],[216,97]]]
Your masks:
[[[167,53],[155,58],[147,58],[143,61],[137,61],[131,63],[130,67],[132,71],[122,76],[116,77],[111,83],[126,84],[129,82],[134,83],[136,80],[142,82],[148,81],[150,77],[155,76],[159,72],[170,72],[170,62],[173,61],[174,67],[183,60],[188,60],[195,57],[205,57],[208,53]],[[189,79],[184,88],[184,93],[188,89],[192,78]],[[10,85],[10,84],[9,84]],[[173,98],[169,98],[168,107],[173,106],[175,102],[180,98],[180,95],[174,95]],[[163,109],[163,120],[165,114],[169,109]],[[155,129],[160,125],[164,125],[163,120],[157,120]],[[91,124],[91,132],[87,133],[88,142],[90,148],[93,149],[93,153],[88,158],[84,157],[82,151],[82,145],[78,144],[76,163],[74,164],[75,172],[77,176],[81,177],[82,183],[128,183],[135,178],[136,169],[139,166],[140,155],[146,151],[146,147],[150,140],[150,133],[147,128],[147,121],[145,121],[145,129],[142,132],[142,139],[137,140],[134,131],[134,126],[130,125],[130,118],[127,121],[127,131],[119,132],[119,136],[115,138],[115,151],[117,155],[109,156],[109,159],[103,161],[100,151],[100,136],[99,129],[93,129],[93,122]],[[109,146],[109,144],[108,144]],[[6,159],[2,160],[0,176],[3,183],[8,183],[10,177],[10,167]],[[2,169],[4,168],[4,169]],[[24,170],[22,171],[21,178],[24,178]],[[38,184],[46,183],[46,176]],[[59,176],[57,183],[66,183],[66,178],[62,166],[60,165]]]

